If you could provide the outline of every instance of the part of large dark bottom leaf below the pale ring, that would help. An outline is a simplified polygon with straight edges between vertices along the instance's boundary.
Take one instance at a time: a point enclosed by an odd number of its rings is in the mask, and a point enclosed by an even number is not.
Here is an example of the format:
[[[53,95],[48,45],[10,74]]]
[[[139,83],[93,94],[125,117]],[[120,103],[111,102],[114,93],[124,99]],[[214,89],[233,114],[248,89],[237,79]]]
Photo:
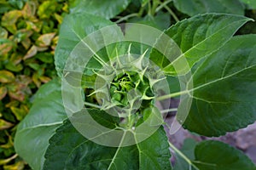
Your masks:
[[[88,110],[106,116],[104,111]],[[106,127],[112,127],[111,121]],[[114,139],[113,139],[114,140]],[[107,147],[85,139],[69,120],[49,140],[44,169],[172,169],[168,139],[163,127],[139,144]]]

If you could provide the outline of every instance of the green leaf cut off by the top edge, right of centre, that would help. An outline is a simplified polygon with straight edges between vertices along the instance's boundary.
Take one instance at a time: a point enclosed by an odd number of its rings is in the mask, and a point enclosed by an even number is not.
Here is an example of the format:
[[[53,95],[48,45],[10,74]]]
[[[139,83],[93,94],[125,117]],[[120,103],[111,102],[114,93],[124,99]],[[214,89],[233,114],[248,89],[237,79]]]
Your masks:
[[[204,13],[244,14],[239,0],[174,0],[174,6],[184,14]]]

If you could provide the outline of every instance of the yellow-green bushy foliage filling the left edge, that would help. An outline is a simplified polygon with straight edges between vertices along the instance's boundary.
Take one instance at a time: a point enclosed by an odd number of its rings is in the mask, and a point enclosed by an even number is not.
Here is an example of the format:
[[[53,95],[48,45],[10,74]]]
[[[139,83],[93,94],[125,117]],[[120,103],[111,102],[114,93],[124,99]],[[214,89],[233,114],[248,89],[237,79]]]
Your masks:
[[[15,128],[32,94],[56,77],[54,50],[68,3],[0,0],[0,169],[26,169],[15,154]]]

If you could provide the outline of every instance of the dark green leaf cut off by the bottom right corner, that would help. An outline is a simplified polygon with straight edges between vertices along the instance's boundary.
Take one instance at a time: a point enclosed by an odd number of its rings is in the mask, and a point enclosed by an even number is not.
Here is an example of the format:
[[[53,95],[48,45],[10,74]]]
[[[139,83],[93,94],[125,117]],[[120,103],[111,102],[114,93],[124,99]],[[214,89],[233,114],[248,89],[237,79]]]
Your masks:
[[[191,143],[191,142],[190,142]],[[187,143],[189,144],[189,143]],[[189,146],[189,145],[187,145]],[[207,140],[182,149],[177,156],[176,170],[255,170],[256,167],[241,150],[216,140]]]

